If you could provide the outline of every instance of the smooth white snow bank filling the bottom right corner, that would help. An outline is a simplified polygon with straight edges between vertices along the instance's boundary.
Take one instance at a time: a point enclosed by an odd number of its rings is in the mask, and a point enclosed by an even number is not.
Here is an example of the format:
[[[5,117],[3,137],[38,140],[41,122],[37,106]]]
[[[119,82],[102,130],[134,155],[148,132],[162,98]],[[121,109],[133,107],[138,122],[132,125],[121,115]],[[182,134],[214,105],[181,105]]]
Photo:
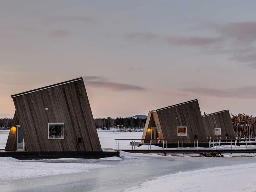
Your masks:
[[[146,181],[125,192],[255,191],[255,172],[256,163],[180,172]]]

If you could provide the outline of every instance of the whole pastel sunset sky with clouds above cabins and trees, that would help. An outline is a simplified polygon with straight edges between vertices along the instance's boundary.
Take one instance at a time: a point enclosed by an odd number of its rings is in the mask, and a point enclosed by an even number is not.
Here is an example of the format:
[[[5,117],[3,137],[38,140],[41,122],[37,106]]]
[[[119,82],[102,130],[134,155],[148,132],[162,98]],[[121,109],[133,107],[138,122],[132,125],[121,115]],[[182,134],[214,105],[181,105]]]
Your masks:
[[[256,115],[255,0],[6,0],[0,117],[11,95],[84,77],[94,118],[198,99]]]

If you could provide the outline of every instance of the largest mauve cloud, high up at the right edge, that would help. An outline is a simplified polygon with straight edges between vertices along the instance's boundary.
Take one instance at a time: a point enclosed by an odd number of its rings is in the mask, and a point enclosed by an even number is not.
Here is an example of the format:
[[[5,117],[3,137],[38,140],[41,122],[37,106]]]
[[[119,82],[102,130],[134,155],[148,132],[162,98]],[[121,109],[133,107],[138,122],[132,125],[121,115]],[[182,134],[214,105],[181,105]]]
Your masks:
[[[218,46],[212,50],[203,51],[202,54],[227,54],[231,61],[246,64],[256,68],[256,21],[243,21],[217,24],[202,22],[194,30],[207,29],[221,38]]]

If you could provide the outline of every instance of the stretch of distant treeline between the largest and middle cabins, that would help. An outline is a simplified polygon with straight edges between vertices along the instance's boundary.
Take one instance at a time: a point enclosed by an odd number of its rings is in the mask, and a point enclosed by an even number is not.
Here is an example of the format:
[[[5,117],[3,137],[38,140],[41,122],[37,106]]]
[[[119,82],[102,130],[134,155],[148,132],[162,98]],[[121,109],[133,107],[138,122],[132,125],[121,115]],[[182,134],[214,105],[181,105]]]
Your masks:
[[[98,128],[144,128],[146,119],[133,117],[120,118],[98,118],[94,119],[95,125]]]

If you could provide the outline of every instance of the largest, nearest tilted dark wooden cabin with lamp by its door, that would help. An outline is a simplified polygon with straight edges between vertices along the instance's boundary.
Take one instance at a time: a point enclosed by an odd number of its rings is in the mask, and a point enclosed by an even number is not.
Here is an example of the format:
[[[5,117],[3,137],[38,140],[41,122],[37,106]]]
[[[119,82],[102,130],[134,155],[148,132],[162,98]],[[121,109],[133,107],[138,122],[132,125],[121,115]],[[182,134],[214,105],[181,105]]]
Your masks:
[[[101,152],[83,78],[12,95],[5,151]]]

